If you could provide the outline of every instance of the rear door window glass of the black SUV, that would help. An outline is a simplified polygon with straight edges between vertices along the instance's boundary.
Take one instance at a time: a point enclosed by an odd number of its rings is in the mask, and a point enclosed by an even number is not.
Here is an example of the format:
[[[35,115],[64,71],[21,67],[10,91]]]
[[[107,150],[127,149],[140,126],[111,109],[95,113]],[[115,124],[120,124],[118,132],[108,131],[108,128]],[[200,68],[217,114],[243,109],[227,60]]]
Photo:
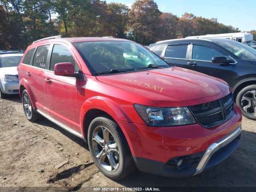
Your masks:
[[[188,45],[170,45],[166,48],[165,57],[186,59]]]

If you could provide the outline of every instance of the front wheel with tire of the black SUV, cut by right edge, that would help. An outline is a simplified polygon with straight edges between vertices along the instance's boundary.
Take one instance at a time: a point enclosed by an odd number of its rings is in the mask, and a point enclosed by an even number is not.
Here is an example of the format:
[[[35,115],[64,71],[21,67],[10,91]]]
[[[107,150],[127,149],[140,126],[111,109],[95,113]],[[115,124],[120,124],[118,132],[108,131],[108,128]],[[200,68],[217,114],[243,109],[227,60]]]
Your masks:
[[[236,96],[236,104],[246,118],[256,120],[256,85],[243,88]]]

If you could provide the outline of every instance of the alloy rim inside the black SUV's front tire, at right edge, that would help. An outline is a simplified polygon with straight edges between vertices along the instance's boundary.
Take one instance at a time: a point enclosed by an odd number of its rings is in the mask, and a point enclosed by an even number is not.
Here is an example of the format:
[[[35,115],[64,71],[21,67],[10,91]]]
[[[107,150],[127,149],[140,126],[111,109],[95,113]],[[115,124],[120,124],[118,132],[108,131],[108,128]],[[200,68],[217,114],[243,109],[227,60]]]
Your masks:
[[[256,90],[247,91],[241,99],[243,110],[253,116],[256,116]]]

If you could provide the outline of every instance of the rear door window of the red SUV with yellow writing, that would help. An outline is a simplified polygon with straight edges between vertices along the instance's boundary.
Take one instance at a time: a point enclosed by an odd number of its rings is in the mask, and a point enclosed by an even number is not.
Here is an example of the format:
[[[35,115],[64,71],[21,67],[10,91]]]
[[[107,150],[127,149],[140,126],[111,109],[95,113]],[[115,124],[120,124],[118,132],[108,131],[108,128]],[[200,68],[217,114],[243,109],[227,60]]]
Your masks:
[[[36,49],[36,53],[34,55],[34,60],[33,60],[33,66],[40,67],[43,69],[49,69],[49,66],[47,66],[46,64],[49,48],[50,48],[50,45],[44,45]]]

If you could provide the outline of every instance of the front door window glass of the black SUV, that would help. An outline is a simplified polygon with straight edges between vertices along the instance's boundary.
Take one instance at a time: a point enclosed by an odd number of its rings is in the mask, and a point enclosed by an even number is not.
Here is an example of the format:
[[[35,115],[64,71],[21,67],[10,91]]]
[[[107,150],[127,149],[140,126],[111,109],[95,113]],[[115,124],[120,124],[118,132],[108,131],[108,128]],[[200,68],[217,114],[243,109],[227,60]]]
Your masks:
[[[214,56],[224,56],[224,55],[210,47],[193,45],[192,59],[212,61],[212,57]]]

